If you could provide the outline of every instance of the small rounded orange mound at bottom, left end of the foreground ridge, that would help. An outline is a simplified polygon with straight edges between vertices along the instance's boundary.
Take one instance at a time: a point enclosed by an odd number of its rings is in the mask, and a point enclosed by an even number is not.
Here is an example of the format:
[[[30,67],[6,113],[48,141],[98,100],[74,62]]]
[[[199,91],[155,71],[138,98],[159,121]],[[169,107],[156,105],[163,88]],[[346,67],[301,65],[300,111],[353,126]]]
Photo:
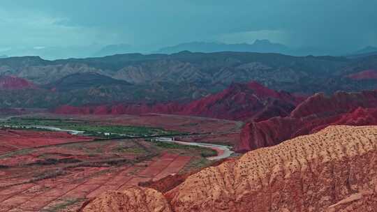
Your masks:
[[[168,201],[151,188],[132,187],[124,191],[109,191],[89,202],[82,212],[170,212]]]

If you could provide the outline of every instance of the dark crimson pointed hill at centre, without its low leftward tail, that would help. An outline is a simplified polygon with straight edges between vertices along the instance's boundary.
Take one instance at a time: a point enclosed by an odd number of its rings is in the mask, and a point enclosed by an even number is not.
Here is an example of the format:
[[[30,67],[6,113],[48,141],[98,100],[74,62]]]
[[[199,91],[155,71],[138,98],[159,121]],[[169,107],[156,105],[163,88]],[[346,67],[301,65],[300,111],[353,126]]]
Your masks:
[[[195,100],[182,114],[218,119],[256,120],[287,116],[302,101],[287,92],[278,92],[258,84],[232,84],[228,89]]]

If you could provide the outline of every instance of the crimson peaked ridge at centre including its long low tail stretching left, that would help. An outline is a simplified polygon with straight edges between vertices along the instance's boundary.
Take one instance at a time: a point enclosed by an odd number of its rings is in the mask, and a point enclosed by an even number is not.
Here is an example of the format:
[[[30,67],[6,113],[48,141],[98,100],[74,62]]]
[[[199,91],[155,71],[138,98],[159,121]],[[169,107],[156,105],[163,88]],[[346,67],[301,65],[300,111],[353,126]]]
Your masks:
[[[286,92],[267,89],[256,82],[232,84],[228,89],[195,100],[187,105],[179,103],[119,104],[94,107],[59,107],[61,114],[180,114],[207,116],[217,119],[265,120],[273,116],[288,116],[304,98]]]

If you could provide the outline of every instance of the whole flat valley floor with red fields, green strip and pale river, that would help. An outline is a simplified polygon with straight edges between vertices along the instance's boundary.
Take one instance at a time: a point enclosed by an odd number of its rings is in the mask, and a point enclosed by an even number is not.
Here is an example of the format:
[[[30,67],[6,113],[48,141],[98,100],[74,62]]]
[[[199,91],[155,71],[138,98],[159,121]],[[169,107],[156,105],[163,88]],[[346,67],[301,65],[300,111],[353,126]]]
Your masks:
[[[109,189],[197,172],[231,155],[224,132],[240,132],[235,121],[189,116],[24,113],[1,121],[1,211],[75,211]],[[223,140],[192,142],[207,138]]]

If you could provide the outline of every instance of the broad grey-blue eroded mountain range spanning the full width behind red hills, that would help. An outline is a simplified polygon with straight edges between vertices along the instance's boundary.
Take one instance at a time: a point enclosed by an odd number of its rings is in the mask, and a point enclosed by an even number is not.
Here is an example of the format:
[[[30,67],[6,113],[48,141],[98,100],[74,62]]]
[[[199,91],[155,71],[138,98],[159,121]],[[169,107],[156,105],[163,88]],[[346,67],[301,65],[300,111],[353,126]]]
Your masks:
[[[56,61],[38,56],[8,57],[0,59],[0,76],[13,78],[3,78],[0,107],[166,103],[172,100],[185,103],[222,91],[234,82],[250,81],[276,91],[304,96],[338,90],[374,90],[377,89],[376,73],[377,55],[348,59],[186,51]],[[23,79],[35,86],[23,86],[29,84]]]

